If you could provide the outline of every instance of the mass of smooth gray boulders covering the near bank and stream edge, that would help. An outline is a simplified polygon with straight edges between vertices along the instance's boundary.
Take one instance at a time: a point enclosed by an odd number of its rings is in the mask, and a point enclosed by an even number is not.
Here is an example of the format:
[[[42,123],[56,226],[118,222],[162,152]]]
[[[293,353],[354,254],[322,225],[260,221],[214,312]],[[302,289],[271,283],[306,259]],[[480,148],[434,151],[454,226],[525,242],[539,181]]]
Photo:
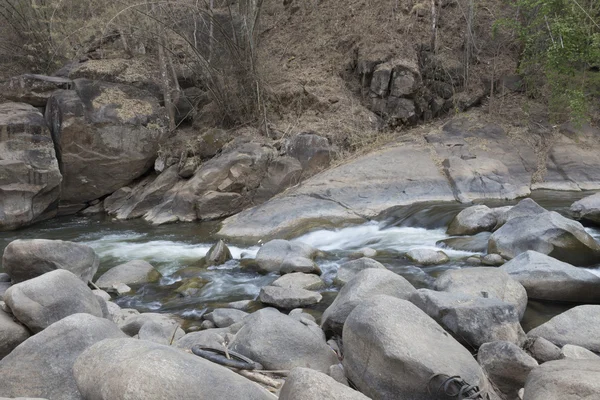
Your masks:
[[[363,249],[339,267],[334,284],[341,290],[318,321],[304,307],[322,300],[319,290],[326,284],[314,261],[322,252],[273,240],[244,265],[281,275],[260,292],[266,308],[249,312],[256,302],[231,303],[205,314],[202,330],[188,333],[175,315],[139,313],[111,301],[108,292],[118,295],[127,291],[123,285],[160,278],[150,264],[134,260],[114,267],[92,290],[88,283],[99,264],[93,249],[14,241],[0,276],[0,394],[49,400],[425,400],[444,398],[445,385],[432,386],[432,377],[443,382],[459,376],[491,399],[600,396],[600,305],[578,305],[600,302],[600,277],[565,261],[591,264],[598,245],[579,223],[532,200],[483,207],[463,210],[449,232],[493,230],[488,250],[503,262],[510,259],[500,267],[447,270],[429,289],[417,289],[365,257],[375,256],[374,250]],[[229,259],[220,241],[204,262]],[[521,319],[528,299],[577,305],[526,333]],[[275,372],[225,368],[190,354],[195,345],[227,348]]]

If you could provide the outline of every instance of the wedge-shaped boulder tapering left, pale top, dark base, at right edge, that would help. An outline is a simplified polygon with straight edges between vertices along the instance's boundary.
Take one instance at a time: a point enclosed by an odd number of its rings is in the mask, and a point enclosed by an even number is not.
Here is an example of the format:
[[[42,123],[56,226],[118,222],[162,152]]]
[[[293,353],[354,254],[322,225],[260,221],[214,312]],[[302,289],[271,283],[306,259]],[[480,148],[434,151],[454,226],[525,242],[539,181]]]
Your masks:
[[[530,299],[600,302],[600,277],[536,251],[526,251],[500,267],[527,290]]]

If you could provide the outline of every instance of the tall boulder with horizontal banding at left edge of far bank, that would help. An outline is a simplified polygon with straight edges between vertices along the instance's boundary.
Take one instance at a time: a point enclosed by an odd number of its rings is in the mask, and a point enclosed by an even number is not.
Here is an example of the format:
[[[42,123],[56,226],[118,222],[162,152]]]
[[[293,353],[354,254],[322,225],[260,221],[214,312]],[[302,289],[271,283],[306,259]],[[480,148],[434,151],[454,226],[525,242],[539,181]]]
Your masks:
[[[43,115],[28,104],[0,104],[0,231],[55,216],[61,181]]]

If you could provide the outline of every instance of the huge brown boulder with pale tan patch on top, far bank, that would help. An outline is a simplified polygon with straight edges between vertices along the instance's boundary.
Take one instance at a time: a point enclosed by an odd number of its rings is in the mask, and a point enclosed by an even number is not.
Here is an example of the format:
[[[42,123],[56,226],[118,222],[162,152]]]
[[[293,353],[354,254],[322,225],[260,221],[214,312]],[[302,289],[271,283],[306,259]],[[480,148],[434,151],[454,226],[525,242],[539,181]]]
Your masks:
[[[167,133],[164,108],[151,94],[88,79],[54,92],[46,120],[61,160],[64,204],[97,199],[144,174]]]

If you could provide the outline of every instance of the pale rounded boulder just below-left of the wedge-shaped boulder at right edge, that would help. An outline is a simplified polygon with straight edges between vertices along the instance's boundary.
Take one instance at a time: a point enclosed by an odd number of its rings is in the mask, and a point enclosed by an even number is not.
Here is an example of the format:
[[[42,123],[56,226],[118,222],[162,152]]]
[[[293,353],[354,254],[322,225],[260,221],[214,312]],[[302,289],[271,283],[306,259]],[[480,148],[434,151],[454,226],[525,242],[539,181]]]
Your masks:
[[[527,292],[506,272],[492,267],[448,270],[435,281],[435,289],[502,300],[515,306],[522,318],[527,308]]]

